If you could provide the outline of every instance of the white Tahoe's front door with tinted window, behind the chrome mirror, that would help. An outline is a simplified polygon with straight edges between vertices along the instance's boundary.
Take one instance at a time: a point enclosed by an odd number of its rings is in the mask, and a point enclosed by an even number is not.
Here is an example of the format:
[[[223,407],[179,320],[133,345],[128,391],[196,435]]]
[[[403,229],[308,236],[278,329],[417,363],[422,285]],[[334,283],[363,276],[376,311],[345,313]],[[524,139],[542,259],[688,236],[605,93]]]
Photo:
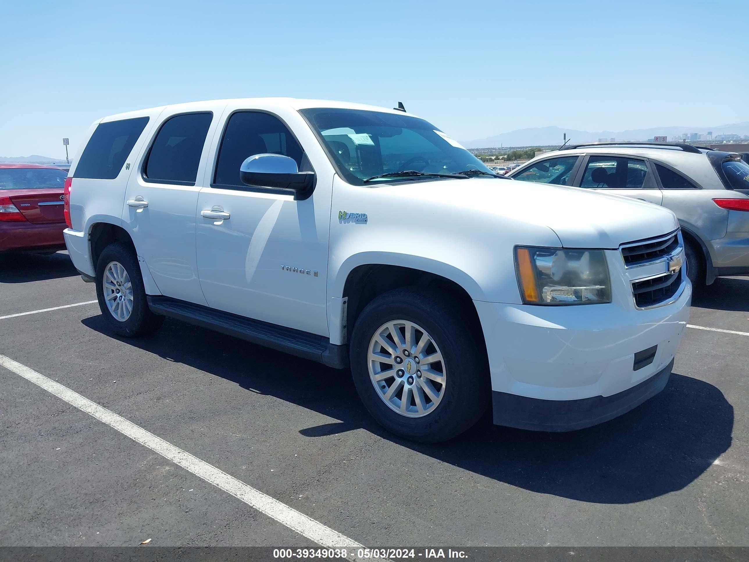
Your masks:
[[[231,114],[210,187],[198,195],[198,277],[208,306],[328,335],[326,279],[330,184],[309,199],[248,187],[243,161],[283,154],[312,171],[288,127],[267,112]]]

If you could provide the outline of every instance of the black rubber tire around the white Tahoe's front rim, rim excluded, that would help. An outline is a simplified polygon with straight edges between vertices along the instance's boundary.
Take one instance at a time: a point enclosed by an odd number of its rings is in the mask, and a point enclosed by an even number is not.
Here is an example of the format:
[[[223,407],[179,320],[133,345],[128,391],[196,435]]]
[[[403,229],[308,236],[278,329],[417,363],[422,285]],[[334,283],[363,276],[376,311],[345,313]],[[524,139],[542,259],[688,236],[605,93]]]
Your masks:
[[[476,423],[488,405],[491,384],[485,349],[476,341],[480,332],[477,335],[465,315],[447,301],[449,296],[439,291],[390,291],[366,306],[351,335],[351,373],[362,402],[382,426],[414,441],[437,442],[455,437]],[[375,330],[393,320],[410,321],[424,328],[443,356],[447,371],[445,395],[434,412],[423,417],[406,417],[389,408],[369,376],[370,340]]]

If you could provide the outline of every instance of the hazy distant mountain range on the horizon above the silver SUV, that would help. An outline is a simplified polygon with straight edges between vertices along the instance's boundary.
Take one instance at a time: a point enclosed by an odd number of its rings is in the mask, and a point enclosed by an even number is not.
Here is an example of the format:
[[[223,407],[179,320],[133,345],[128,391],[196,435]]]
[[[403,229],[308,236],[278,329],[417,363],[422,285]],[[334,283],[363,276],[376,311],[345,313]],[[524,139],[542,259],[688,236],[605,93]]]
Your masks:
[[[531,129],[518,129],[501,133],[500,135],[490,136],[486,139],[476,139],[472,141],[461,141],[465,148],[489,148],[498,146],[544,146],[562,144],[562,135],[567,133],[567,138],[571,144],[578,142],[596,142],[598,139],[616,139],[616,140],[647,140],[654,136],[667,136],[669,141],[673,140],[676,135],[683,133],[700,133],[706,134],[712,131],[713,136],[736,134],[749,134],[749,121],[742,123],[733,123],[727,125],[716,125],[715,127],[652,127],[650,129],[631,129],[631,130],[599,130],[585,131],[574,129],[560,129],[560,127],[535,127]]]

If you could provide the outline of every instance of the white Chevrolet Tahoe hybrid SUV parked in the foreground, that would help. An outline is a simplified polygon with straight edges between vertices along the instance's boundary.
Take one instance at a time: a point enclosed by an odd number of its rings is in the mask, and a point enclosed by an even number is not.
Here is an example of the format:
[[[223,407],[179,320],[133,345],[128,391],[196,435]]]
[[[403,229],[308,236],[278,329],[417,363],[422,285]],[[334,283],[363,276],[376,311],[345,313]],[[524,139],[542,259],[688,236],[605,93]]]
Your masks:
[[[664,388],[688,318],[671,211],[501,178],[402,109],[113,115],[91,125],[64,202],[113,332],[171,316],[350,367],[372,416],[416,441],[490,404],[524,429],[610,420]]]

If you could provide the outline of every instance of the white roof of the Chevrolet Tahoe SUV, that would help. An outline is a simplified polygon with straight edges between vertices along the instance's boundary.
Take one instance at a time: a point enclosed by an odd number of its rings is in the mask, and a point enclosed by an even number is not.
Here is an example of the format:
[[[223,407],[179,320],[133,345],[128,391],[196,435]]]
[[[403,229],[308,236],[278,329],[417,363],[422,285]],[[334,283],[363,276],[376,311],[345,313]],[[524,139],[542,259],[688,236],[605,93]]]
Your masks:
[[[207,106],[225,105],[227,103],[246,105],[249,109],[252,109],[253,107],[258,107],[258,109],[270,110],[273,110],[273,108],[310,109],[314,107],[330,107],[336,109],[363,109],[366,111],[378,111],[392,113],[394,115],[409,115],[410,117],[417,117],[417,115],[413,115],[413,113],[402,112],[399,109],[369,106],[364,103],[351,103],[347,101],[305,100],[298,99],[296,97],[237,97],[225,100],[203,100],[188,103],[173,103],[166,106],[149,107],[147,109],[138,109],[131,112],[107,115],[105,118],[100,119],[96,122],[117,121],[119,119],[141,117],[143,115],[154,115],[162,112],[167,108],[169,108],[170,112],[174,111],[175,109],[178,112],[199,111],[201,109],[206,109]]]

